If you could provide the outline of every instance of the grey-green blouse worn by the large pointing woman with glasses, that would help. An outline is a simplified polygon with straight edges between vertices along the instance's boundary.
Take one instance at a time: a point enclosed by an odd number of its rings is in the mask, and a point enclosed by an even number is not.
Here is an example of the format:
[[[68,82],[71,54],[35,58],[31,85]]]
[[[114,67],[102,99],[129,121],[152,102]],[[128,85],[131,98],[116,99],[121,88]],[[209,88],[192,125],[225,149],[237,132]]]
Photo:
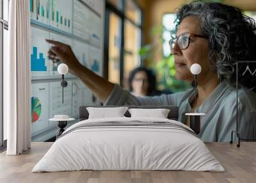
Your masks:
[[[179,107],[179,122],[186,122],[185,113],[191,112],[194,97],[191,88],[186,92],[163,94],[156,97],[135,97],[118,84],[104,105],[172,105]],[[256,138],[256,93],[242,87],[238,90],[239,132],[241,138]],[[231,131],[236,130],[236,90],[221,82],[205,102],[195,109],[201,116],[200,138],[203,141],[230,141]]]

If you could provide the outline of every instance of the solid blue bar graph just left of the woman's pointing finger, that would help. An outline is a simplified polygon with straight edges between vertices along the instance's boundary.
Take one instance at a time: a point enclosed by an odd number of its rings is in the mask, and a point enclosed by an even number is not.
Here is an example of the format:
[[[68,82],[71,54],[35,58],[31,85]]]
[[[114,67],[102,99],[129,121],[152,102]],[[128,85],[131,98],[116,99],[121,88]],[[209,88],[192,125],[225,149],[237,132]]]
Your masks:
[[[37,47],[33,47],[33,54],[31,54],[31,71],[47,71],[44,54],[40,52],[37,58]]]

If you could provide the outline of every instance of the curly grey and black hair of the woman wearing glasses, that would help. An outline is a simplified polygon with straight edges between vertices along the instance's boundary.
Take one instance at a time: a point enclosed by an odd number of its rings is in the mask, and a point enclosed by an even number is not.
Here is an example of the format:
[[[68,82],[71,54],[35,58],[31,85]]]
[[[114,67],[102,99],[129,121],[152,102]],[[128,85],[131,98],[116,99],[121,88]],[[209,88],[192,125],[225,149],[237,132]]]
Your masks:
[[[200,19],[200,29],[208,37],[209,61],[212,69],[221,79],[234,85],[236,81],[236,61],[256,59],[255,21],[241,10],[221,3],[193,1],[179,8],[177,28],[188,16]],[[254,83],[254,84],[253,84]],[[245,78],[241,84],[252,88],[256,79]]]

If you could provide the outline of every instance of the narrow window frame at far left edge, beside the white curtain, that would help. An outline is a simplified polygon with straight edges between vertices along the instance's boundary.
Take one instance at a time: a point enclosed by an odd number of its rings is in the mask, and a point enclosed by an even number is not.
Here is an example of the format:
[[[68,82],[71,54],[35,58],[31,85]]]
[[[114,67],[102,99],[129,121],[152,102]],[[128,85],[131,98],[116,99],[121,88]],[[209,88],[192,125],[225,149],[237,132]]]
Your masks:
[[[9,0],[8,3],[10,3]],[[1,13],[0,13],[0,151],[6,149],[6,140],[4,140],[4,121],[3,121],[3,59],[4,59],[4,29],[8,31],[8,21],[4,20],[4,0],[0,0]],[[9,8],[9,6],[8,6]]]

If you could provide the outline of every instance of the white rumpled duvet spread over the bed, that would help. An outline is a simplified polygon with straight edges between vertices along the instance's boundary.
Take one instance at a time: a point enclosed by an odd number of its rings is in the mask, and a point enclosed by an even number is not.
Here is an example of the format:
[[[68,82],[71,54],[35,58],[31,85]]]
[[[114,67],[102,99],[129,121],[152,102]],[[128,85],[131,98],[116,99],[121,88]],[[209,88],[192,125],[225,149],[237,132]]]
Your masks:
[[[79,125],[88,125],[89,123],[93,125],[95,122],[168,122],[174,127],[112,125],[77,128]],[[63,136],[53,143],[32,172],[72,170],[225,171],[205,144],[189,131],[192,130],[186,125],[163,118],[124,117],[84,120],[63,132]]]

